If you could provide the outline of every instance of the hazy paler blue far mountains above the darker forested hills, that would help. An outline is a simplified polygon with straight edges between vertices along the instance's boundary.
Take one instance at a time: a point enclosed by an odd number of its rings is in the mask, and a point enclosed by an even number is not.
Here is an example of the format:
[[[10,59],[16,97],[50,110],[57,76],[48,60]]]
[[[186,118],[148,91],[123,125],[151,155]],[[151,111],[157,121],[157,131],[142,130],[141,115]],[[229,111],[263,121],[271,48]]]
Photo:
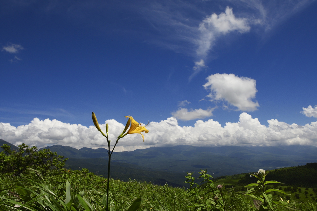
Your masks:
[[[82,148],[54,145],[51,151],[68,158],[105,158],[104,148]],[[262,169],[276,169],[317,162],[317,147],[195,147],[179,145],[150,147],[143,150],[113,152],[112,162],[130,163],[165,172],[190,172],[208,168],[214,176],[231,175]]]

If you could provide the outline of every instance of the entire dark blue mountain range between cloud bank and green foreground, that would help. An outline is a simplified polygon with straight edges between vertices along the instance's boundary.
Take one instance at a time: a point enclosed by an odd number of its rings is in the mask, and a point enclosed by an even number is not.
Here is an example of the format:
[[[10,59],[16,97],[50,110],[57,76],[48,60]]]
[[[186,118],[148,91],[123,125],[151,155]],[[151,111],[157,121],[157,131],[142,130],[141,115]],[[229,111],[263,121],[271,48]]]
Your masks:
[[[78,150],[62,145],[45,148],[68,157],[66,168],[74,170],[87,168],[98,175],[107,175],[108,155],[105,148],[94,150],[84,147]],[[198,172],[201,169],[207,169],[208,173],[216,178],[256,172],[258,169],[271,170],[315,162],[317,162],[317,147],[314,146],[195,147],[178,145],[113,152],[111,176],[123,181],[131,178],[157,184],[168,182],[173,186],[178,184],[182,186],[187,172]]]

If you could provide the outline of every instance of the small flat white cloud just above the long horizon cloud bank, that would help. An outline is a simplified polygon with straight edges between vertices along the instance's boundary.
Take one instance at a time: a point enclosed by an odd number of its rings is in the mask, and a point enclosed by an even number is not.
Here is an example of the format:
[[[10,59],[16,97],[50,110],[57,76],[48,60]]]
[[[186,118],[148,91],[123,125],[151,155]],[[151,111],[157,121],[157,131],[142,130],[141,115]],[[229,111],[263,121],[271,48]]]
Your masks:
[[[171,114],[177,119],[188,121],[193,119],[203,119],[206,117],[211,117],[212,111],[213,109],[204,110],[201,108],[195,110],[190,109],[188,111],[187,108],[180,108],[178,111],[172,112]]]

